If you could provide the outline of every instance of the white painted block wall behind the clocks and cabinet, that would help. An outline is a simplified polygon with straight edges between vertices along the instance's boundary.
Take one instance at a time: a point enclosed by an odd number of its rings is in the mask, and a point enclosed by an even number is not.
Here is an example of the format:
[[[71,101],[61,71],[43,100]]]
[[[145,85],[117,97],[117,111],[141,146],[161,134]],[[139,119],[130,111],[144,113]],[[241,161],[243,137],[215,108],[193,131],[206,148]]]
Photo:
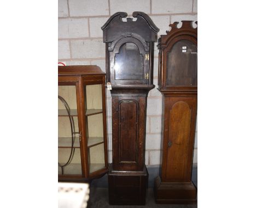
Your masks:
[[[170,30],[168,25],[182,20],[197,21],[197,0],[59,0],[59,62],[67,65],[105,67],[105,44],[101,26],[117,11],[129,16],[133,11],[148,14],[160,29],[158,36]],[[179,23],[178,27],[181,27]],[[154,89],[149,91],[147,107],[147,166],[160,164],[162,95],[158,88],[158,48],[154,52]],[[112,162],[111,95],[106,90],[109,162]],[[196,125],[197,126],[197,125]],[[197,164],[197,127],[194,164]]]

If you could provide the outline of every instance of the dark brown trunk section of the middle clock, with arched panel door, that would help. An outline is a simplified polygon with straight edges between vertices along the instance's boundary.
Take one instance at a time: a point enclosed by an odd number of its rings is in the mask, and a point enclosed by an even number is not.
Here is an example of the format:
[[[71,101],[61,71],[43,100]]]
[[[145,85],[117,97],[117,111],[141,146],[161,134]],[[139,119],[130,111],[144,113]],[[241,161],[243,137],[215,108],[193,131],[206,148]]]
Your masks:
[[[122,89],[123,94],[117,91],[111,92],[113,169],[141,171],[145,160],[147,93],[144,89],[140,93],[138,89]],[[120,108],[124,103],[123,109]],[[122,160],[122,155],[127,160]]]

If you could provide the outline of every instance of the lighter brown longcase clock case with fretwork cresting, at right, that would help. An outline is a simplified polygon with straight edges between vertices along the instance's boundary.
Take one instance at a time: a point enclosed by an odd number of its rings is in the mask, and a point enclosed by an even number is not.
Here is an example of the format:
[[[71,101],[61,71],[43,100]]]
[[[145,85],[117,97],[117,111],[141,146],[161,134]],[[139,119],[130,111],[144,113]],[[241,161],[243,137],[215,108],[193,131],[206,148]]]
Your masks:
[[[197,111],[197,27],[192,21],[171,24],[161,35],[159,90],[162,93],[161,171],[155,200],[162,204],[195,204],[191,181]],[[197,24],[197,22],[196,22]]]

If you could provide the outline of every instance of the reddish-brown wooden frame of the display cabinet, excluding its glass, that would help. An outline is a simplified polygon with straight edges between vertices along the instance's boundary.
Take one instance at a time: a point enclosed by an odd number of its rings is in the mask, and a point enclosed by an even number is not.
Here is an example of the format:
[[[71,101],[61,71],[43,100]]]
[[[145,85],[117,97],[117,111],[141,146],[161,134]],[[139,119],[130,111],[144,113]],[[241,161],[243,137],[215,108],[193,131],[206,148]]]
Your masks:
[[[77,117],[78,127],[81,135],[80,139],[80,160],[82,174],[59,174],[59,181],[90,181],[95,178],[100,178],[108,172],[108,155],[107,155],[107,130],[106,130],[106,96],[105,96],[105,73],[98,66],[59,66],[58,85],[74,85],[77,97]],[[95,172],[89,172],[88,151],[94,146],[88,145],[88,137],[86,136],[86,117],[97,114],[91,113],[86,115],[85,109],[85,86],[86,85],[101,85],[102,95],[102,124],[103,124],[103,142],[95,145],[103,144],[104,146],[104,168],[98,169]]]

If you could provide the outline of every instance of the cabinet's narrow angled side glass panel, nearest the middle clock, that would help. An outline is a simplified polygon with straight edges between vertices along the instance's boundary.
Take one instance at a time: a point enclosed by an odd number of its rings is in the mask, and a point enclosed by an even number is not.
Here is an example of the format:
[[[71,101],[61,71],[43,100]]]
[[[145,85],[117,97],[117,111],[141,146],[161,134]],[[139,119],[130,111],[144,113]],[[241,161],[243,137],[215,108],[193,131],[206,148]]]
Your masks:
[[[102,84],[84,86],[89,173],[105,167]]]

